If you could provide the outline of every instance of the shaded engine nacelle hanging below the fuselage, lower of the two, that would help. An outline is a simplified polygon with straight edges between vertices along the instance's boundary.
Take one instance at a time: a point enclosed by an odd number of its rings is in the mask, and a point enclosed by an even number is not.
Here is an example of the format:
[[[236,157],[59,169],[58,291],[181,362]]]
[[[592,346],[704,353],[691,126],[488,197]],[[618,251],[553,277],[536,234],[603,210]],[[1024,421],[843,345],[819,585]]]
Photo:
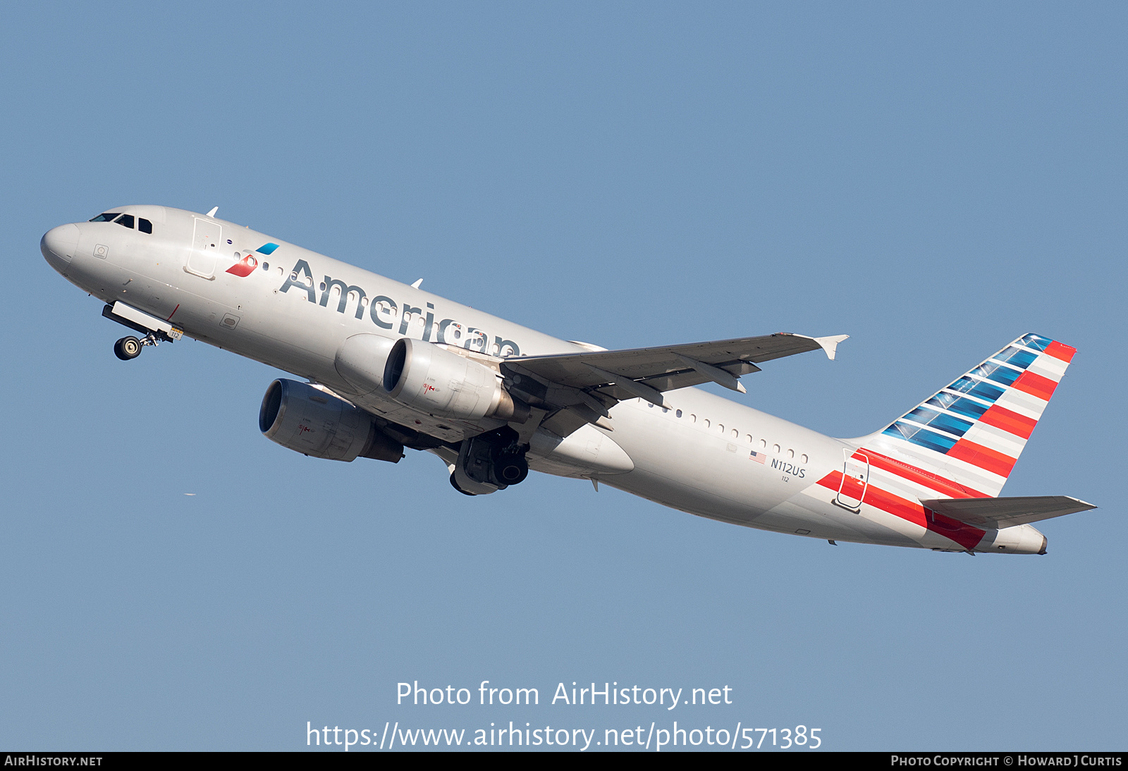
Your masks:
[[[303,455],[398,463],[404,445],[381,432],[372,416],[332,393],[296,380],[275,380],[258,410],[266,438]]]

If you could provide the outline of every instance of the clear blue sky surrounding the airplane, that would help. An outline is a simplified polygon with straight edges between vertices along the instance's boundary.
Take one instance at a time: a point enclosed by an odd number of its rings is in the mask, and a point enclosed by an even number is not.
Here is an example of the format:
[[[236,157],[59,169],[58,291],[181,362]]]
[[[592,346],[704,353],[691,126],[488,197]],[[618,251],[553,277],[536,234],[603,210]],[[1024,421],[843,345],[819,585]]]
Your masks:
[[[8,10],[0,745],[679,719],[1123,748],[1126,33],[1117,3]],[[849,334],[735,397],[836,436],[1047,335],[1079,353],[1005,493],[1100,508],[1043,523],[1045,557],[972,559],[307,459],[256,427],[280,373],[188,340],[118,362],[39,256],[124,203],[219,205],[607,347]],[[397,707],[415,680],[541,704]],[[733,703],[545,703],[573,681]]]

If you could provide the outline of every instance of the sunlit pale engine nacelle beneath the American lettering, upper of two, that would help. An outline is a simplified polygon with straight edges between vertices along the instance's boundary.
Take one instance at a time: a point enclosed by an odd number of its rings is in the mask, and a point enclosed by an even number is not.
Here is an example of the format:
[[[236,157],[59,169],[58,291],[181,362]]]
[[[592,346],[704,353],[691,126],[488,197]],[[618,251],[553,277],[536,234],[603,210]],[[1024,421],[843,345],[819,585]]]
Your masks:
[[[528,406],[514,402],[488,366],[407,337],[391,346],[384,369],[384,390],[396,401],[431,415],[517,423],[529,418]]]

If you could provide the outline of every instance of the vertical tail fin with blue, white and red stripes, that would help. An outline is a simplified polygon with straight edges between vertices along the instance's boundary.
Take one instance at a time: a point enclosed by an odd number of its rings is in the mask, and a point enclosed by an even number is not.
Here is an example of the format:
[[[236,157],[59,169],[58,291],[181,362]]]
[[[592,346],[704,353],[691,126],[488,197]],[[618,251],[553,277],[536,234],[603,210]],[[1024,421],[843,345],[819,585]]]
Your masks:
[[[1076,348],[1024,335],[884,431],[855,442],[994,497]]]

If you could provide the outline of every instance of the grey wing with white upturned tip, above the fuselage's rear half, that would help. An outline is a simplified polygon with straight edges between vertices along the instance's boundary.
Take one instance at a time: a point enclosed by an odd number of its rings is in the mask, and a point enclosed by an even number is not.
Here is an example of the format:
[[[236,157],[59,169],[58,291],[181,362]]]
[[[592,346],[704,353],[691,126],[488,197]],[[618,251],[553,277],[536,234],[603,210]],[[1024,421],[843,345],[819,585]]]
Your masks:
[[[521,356],[503,361],[501,367],[512,383],[510,390],[530,404],[572,413],[545,422],[550,431],[566,436],[583,423],[610,428],[607,409],[625,399],[637,397],[670,408],[663,392],[705,382],[743,392],[738,378],[759,372],[757,364],[819,349],[834,358],[838,343],[847,337],[778,333],[653,348]],[[515,382],[513,375],[518,375]]]

